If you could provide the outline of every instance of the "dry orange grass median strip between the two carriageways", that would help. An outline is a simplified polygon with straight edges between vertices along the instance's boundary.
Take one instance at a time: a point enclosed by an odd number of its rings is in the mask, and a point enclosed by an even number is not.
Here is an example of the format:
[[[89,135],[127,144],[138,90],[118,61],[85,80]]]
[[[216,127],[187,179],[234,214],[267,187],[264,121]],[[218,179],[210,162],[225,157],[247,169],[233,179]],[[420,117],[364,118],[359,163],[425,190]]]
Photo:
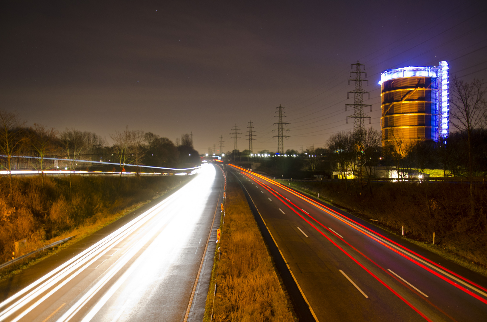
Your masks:
[[[295,321],[242,189],[228,182],[226,194],[221,255],[217,248],[203,321],[211,312],[213,322]]]

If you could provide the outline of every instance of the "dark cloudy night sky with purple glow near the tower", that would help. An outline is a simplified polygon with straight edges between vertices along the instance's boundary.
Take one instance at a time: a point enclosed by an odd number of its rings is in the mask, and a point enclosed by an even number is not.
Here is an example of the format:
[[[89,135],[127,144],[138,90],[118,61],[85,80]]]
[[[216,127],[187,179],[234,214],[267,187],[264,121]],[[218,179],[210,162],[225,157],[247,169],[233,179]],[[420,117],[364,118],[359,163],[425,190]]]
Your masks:
[[[380,72],[450,64],[487,79],[487,1],[2,1],[0,108],[27,125],[194,134],[206,153],[235,124],[254,152],[325,145],[346,124],[350,64],[365,64],[379,129]],[[364,84],[365,85],[365,84]],[[366,122],[367,126],[368,123]]]

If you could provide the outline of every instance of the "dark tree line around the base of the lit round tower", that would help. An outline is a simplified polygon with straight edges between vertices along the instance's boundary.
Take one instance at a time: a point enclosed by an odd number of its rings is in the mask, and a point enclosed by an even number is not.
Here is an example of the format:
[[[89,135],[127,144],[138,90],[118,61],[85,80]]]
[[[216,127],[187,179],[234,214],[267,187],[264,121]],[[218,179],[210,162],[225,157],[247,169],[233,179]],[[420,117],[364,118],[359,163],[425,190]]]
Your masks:
[[[377,169],[396,172],[398,179],[425,175],[426,169],[440,170],[444,177],[483,177],[487,174],[487,107],[485,83],[474,79],[468,83],[453,78],[450,83],[450,125],[453,131],[437,142],[406,140],[396,136],[382,143],[382,133],[373,127],[333,134],[324,147],[308,147],[302,152],[287,150],[290,158],[265,161],[274,174],[299,168],[340,178],[376,178]],[[276,169],[279,168],[279,171]],[[439,171],[437,171],[439,172]],[[295,176],[299,175],[296,174]],[[305,174],[301,174],[305,176]],[[281,174],[280,174],[281,176]],[[295,177],[297,178],[297,177]],[[346,181],[344,180],[345,184]]]

